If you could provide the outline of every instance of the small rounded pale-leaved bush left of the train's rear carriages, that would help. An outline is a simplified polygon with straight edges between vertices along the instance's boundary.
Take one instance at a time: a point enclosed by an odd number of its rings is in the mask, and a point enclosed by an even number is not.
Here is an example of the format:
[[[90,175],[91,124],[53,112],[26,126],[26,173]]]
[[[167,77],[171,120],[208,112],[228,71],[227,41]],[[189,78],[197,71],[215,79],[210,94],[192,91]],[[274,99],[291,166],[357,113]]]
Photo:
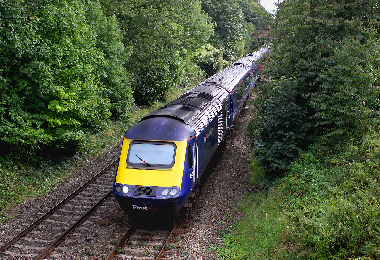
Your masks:
[[[223,52],[207,44],[196,52],[193,61],[211,77],[223,68]]]

